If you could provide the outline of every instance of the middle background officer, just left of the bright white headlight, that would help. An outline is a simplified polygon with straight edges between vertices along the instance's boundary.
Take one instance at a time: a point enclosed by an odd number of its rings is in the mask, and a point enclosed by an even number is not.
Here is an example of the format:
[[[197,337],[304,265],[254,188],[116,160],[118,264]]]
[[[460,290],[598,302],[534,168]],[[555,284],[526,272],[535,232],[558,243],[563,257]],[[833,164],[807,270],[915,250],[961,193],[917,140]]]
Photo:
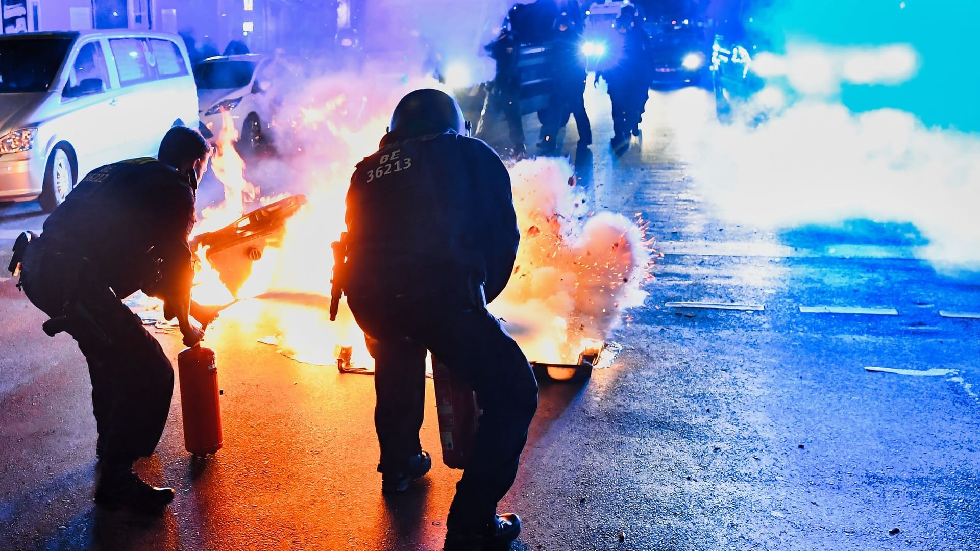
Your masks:
[[[552,48],[552,100],[542,125],[543,138],[538,144],[543,155],[558,154],[558,133],[572,115],[578,127],[578,148],[592,144],[592,126],[585,112],[585,60],[579,51],[582,31],[571,14],[559,16],[555,22],[555,36]]]

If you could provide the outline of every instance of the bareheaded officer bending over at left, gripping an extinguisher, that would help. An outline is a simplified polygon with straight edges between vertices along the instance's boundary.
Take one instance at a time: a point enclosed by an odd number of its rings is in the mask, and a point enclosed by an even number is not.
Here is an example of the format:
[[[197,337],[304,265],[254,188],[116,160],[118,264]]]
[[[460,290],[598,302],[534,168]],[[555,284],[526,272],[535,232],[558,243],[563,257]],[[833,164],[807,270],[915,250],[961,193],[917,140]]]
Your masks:
[[[159,511],[173,499],[172,488],[151,486],[132,472],[133,462],[160,441],[173,369],[121,299],[140,288],[159,296],[183,343],[201,339],[202,329],[188,317],[194,271],[187,237],[210,152],[197,130],[172,127],[158,159],[123,161],[85,176],[23,251],[21,284],[51,317],[45,332],[68,331],[88,362],[100,506]]]

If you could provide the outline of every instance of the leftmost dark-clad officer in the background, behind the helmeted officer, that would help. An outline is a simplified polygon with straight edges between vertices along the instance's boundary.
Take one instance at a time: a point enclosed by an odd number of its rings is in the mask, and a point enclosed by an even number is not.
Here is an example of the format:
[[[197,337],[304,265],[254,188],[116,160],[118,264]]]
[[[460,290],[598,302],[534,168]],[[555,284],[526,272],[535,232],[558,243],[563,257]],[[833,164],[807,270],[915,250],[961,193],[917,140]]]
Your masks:
[[[516,9],[515,6],[514,9]],[[514,11],[512,9],[512,11]],[[527,152],[524,143],[524,126],[520,115],[520,77],[517,74],[517,41],[514,32],[505,22],[496,40],[486,46],[486,51],[496,62],[496,73],[480,114],[478,135],[486,135],[488,127],[499,114],[507,120],[514,146],[514,156],[522,157]]]

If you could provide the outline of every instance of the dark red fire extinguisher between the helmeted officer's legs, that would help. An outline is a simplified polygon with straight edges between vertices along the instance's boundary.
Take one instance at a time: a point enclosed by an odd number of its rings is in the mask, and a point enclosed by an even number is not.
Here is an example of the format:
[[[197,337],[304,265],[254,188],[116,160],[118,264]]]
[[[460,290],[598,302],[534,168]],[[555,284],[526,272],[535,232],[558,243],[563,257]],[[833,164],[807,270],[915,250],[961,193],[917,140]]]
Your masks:
[[[442,437],[442,462],[450,469],[466,469],[480,415],[476,396],[465,380],[454,376],[435,356],[432,357],[432,379]]]

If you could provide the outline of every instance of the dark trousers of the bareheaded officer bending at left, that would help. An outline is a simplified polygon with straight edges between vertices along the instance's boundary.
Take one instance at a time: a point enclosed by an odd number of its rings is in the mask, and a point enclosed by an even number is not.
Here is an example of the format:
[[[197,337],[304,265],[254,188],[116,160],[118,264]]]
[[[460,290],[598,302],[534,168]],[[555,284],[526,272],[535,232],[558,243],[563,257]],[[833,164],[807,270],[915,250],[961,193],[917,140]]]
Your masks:
[[[139,317],[93,280],[87,261],[45,250],[43,241],[27,247],[21,281],[27,299],[48,316],[63,316],[66,303],[77,303],[95,322],[73,322],[66,330],[88,362],[100,458],[122,463],[149,456],[171,409],[171,361]]]

